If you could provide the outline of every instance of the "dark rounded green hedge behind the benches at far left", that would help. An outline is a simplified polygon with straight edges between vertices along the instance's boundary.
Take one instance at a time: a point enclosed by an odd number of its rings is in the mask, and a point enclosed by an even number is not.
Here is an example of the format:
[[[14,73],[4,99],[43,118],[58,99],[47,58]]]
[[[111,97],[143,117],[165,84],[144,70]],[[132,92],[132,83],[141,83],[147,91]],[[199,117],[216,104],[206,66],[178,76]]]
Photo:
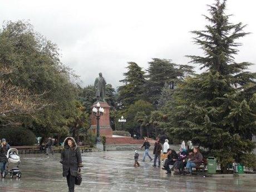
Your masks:
[[[0,128],[0,138],[6,139],[11,146],[34,145],[36,143],[35,134],[23,127]]]

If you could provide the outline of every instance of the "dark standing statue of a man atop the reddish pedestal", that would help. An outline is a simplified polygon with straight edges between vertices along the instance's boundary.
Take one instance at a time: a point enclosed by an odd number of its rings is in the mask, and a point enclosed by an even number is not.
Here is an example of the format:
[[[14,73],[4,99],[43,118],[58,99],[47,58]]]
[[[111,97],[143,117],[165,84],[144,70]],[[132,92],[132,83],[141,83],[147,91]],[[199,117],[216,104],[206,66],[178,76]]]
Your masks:
[[[97,77],[94,82],[97,101],[105,101],[106,84],[106,80],[102,77],[102,73],[99,73],[99,77]]]

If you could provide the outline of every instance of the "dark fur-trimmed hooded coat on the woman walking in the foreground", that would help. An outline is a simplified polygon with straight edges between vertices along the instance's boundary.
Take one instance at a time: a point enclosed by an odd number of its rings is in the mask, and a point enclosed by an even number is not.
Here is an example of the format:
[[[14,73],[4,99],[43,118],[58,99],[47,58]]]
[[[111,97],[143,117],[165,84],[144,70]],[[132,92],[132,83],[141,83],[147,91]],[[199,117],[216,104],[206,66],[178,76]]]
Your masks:
[[[72,148],[68,146],[67,141],[72,140],[75,146]],[[68,175],[68,170],[70,170],[70,173],[72,176],[77,175],[78,167],[82,167],[82,157],[80,149],[78,149],[76,145],[75,139],[72,137],[67,137],[64,140],[64,150],[61,152],[61,161],[63,168],[63,176]]]

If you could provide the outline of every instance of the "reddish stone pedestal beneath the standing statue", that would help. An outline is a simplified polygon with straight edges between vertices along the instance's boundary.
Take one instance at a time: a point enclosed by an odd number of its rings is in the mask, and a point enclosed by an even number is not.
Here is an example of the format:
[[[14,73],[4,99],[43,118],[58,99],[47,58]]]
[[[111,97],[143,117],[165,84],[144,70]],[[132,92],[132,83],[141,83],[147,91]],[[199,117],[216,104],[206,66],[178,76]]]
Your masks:
[[[96,107],[96,104],[93,104],[91,106],[91,110],[93,107]],[[109,119],[110,106],[107,104],[107,102],[100,102],[100,106],[104,108],[104,114],[100,117],[100,136],[112,137],[113,131],[110,127],[110,119]],[[90,129],[94,134],[97,134],[97,120],[93,112],[91,113]]]

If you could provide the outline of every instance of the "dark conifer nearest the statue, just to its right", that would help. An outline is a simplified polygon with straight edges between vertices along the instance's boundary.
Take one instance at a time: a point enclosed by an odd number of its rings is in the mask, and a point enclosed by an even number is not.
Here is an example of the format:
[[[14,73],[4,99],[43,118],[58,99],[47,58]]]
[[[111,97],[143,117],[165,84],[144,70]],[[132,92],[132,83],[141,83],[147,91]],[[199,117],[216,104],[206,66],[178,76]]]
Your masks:
[[[124,73],[124,83],[118,88],[118,101],[122,107],[129,107],[135,101],[140,100],[142,96],[142,86],[145,83],[145,72],[135,62],[128,62],[127,72]]]

